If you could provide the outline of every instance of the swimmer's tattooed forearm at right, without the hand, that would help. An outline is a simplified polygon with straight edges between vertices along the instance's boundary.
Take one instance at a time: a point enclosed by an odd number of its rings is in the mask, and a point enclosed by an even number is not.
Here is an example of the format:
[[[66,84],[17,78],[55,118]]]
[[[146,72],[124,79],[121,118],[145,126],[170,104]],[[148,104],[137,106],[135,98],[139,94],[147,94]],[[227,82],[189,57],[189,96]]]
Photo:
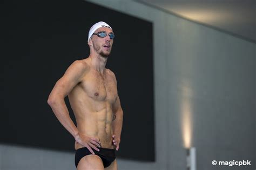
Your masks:
[[[114,113],[116,119],[113,120],[113,133],[120,139],[123,127],[123,111],[122,109]]]

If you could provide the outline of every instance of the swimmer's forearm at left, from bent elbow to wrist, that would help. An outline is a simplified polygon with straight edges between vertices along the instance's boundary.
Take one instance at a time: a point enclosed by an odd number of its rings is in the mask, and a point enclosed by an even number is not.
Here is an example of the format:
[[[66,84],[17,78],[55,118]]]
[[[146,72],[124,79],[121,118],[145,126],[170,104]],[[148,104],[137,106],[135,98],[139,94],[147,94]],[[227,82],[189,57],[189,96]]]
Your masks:
[[[76,139],[78,137],[78,130],[69,115],[68,107],[66,107],[64,99],[56,99],[48,102],[55,113],[59,122],[69,131],[69,133]]]

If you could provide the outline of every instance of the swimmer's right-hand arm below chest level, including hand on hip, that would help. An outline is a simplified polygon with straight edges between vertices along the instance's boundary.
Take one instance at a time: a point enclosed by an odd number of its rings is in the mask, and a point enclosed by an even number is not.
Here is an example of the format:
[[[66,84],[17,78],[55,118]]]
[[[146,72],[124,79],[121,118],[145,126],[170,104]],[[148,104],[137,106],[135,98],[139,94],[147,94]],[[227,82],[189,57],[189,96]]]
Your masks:
[[[116,102],[113,104],[113,135],[112,135],[112,142],[114,146],[116,146],[116,150],[119,149],[119,144],[121,141],[121,132],[123,126],[123,110],[120,104],[120,99],[117,96]]]

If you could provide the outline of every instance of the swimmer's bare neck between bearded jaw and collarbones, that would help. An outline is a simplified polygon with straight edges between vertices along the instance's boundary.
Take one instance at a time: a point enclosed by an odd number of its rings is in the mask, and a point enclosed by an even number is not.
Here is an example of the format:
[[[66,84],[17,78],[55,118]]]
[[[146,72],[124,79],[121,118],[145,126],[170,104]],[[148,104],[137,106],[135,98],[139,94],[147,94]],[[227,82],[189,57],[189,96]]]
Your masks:
[[[100,55],[93,55],[92,53],[90,54],[89,58],[91,59],[91,64],[92,67],[99,71],[100,73],[103,73],[105,70],[106,62],[107,62],[107,57],[102,57]]]

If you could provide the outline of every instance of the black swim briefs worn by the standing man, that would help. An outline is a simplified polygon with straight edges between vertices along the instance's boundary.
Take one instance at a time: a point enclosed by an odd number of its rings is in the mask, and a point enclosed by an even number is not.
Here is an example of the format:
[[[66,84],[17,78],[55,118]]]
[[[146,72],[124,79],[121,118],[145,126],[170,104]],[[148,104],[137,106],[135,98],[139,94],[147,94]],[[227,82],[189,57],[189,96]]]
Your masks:
[[[114,152],[114,149],[99,148],[99,151],[96,151],[95,149],[92,148],[92,150],[96,155],[98,155],[102,159],[104,168],[110,166],[110,164],[114,161],[114,159],[116,159],[116,153]],[[86,147],[77,149],[76,155],[75,155],[76,167],[80,159],[82,159],[86,155],[91,155],[91,154],[92,153]]]

